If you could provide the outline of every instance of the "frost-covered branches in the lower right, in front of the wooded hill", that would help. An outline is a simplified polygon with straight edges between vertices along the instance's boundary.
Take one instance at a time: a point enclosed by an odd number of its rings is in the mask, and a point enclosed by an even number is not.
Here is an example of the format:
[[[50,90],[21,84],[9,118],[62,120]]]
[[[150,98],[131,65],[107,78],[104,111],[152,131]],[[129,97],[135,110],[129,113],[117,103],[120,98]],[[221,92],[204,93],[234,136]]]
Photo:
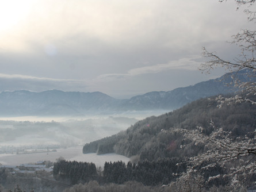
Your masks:
[[[188,175],[204,175],[205,171],[219,166],[225,170],[224,173],[217,173],[205,178],[206,186],[215,179],[225,181],[225,184],[230,185],[231,189],[251,185],[251,178],[255,178],[256,175],[255,134],[245,134],[233,139],[231,131],[216,128],[212,121],[209,124],[213,128],[210,135],[205,135],[204,128],[201,126],[194,130],[173,130],[184,133],[184,140],[190,141],[184,143],[204,145],[204,152],[188,159],[188,170],[181,175],[181,179],[188,178]],[[180,147],[185,148],[186,145]]]

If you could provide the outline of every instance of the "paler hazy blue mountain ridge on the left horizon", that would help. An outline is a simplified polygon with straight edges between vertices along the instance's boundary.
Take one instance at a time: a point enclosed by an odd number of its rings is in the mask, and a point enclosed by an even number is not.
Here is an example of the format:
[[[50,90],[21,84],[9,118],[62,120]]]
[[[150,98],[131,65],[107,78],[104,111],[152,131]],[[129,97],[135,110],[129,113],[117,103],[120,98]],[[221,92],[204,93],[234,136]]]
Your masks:
[[[110,110],[119,103],[118,101],[101,92],[4,91],[0,94],[0,114],[7,116],[78,115],[85,111]]]

